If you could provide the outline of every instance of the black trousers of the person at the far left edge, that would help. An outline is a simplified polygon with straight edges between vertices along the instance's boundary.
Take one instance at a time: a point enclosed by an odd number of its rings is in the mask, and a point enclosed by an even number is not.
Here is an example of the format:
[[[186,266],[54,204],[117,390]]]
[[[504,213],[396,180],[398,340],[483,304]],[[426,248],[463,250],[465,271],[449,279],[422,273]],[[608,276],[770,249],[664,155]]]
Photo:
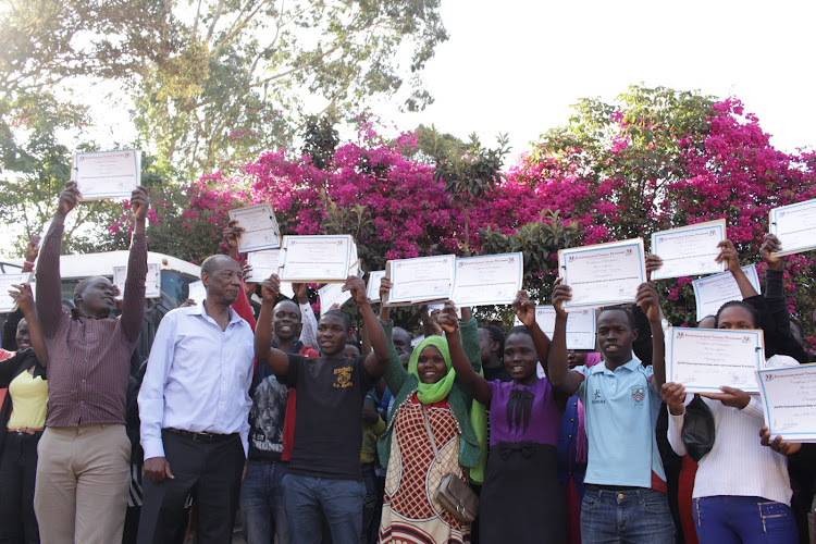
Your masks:
[[[40,436],[42,431],[8,433],[5,436],[0,458],[0,543],[39,543],[37,516],[34,514],[34,482]]]

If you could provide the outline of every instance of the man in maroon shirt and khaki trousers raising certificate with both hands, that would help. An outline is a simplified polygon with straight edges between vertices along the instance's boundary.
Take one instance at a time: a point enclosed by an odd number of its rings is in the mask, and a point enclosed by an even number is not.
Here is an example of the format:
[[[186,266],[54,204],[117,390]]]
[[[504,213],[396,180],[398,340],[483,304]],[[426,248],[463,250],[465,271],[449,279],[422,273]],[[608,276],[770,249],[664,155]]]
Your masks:
[[[107,544],[122,540],[131,441],[125,395],[131,355],[145,316],[147,190],[131,197],[135,219],[122,316],[116,287],[88,277],[62,309],[60,248],[65,217],[79,201],[76,184],[60,194],[37,264],[37,314],[48,348],[48,419],[39,442],[35,510],[42,542]]]

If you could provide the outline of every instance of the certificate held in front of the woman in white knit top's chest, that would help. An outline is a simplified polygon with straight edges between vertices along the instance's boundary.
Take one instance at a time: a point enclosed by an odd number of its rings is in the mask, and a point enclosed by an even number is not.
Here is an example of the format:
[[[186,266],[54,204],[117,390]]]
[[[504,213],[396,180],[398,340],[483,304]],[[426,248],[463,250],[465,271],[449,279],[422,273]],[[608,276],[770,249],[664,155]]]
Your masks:
[[[762,331],[670,327],[667,381],[689,393],[719,392],[720,386],[756,393],[756,371],[765,363]]]

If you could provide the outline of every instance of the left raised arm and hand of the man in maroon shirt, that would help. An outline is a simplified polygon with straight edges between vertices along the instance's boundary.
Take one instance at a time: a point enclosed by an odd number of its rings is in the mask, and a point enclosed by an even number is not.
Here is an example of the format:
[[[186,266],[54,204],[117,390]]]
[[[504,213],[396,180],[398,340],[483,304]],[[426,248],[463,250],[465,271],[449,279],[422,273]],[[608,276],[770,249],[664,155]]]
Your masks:
[[[36,307],[42,334],[47,338],[54,335],[64,316],[60,282],[60,249],[62,248],[62,233],[65,230],[65,217],[76,208],[78,202],[79,191],[76,184],[71,182],[60,193],[60,203],[39,251]]]

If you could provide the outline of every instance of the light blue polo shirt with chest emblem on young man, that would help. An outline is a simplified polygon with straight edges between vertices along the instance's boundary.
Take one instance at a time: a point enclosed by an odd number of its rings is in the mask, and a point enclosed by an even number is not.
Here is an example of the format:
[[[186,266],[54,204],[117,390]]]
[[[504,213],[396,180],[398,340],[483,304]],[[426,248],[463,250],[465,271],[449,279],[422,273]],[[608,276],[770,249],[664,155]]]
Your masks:
[[[584,482],[665,491],[655,438],[660,395],[652,387],[652,367],[633,356],[614,372],[603,361],[573,371],[583,378],[578,396],[590,443]]]

